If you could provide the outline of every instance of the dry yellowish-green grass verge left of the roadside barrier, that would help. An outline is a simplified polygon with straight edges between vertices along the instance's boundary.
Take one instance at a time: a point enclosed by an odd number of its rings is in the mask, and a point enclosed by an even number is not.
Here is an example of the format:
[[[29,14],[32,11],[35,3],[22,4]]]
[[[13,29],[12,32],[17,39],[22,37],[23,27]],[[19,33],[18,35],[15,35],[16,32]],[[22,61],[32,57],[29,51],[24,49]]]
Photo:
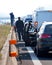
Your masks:
[[[11,29],[10,25],[0,25],[0,51],[7,39],[10,29]]]

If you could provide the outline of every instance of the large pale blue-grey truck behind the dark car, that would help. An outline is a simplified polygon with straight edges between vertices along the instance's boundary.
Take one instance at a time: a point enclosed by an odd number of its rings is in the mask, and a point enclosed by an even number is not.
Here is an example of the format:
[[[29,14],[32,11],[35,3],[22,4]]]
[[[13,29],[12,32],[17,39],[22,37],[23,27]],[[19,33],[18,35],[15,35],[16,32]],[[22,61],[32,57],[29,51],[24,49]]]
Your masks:
[[[38,26],[37,26],[38,28],[41,26],[41,24],[44,21],[51,22],[52,21],[52,10],[34,11],[33,21],[38,22]]]

